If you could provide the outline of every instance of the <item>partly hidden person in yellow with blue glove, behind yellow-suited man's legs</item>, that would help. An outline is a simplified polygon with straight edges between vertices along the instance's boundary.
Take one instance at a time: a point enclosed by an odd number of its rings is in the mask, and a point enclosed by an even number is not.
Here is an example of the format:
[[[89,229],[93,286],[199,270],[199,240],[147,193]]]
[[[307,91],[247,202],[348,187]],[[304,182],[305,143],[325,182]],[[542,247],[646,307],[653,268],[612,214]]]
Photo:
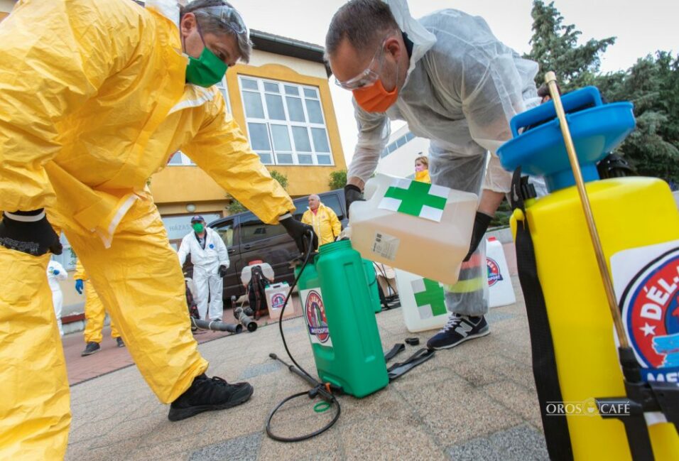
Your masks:
[[[82,295],[82,291],[85,290],[85,331],[83,332],[85,350],[80,354],[82,357],[85,357],[86,355],[94,354],[94,352],[99,352],[101,349],[99,345],[104,339],[102,329],[104,328],[106,310],[104,309],[104,303],[99,299],[99,295],[94,290],[92,281],[89,280],[87,272],[85,272],[85,268],[80,264],[80,261],[77,261],[75,264],[73,278],[75,279],[75,291]],[[113,318],[111,319],[111,337],[116,340],[118,347],[125,346],[123,338],[120,337],[120,333],[116,329]]]

